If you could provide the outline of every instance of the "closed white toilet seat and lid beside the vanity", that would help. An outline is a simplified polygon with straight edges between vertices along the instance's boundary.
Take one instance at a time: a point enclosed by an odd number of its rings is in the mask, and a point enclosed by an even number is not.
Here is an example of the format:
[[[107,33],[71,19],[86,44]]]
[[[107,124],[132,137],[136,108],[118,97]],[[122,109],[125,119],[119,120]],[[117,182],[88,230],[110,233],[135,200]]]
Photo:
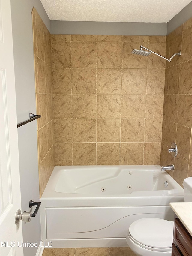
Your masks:
[[[171,251],[173,225],[173,221],[159,218],[139,219],[130,225],[128,237],[140,247],[152,251]]]

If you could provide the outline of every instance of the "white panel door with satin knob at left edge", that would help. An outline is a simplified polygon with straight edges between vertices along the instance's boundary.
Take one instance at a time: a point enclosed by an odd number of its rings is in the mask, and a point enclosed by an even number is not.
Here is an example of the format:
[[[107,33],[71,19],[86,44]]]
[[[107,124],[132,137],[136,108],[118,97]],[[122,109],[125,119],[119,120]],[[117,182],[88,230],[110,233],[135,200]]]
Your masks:
[[[10,0],[0,0],[0,255],[22,256],[21,209]],[[12,242],[12,245],[11,245]],[[15,245],[15,246],[14,246]]]

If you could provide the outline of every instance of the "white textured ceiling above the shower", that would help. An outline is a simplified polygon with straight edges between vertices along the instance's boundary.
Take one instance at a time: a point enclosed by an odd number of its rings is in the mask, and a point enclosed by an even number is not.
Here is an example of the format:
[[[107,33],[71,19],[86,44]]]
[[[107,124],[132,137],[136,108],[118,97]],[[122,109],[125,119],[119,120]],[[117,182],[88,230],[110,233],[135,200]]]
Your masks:
[[[168,22],[191,0],[41,0],[50,20]]]

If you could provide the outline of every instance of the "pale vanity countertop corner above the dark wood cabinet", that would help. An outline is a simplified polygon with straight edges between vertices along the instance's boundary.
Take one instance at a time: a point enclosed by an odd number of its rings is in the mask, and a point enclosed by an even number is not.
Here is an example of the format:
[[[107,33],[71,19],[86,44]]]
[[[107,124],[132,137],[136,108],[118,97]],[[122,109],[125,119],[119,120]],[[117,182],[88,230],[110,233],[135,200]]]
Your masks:
[[[192,236],[192,202],[170,203],[170,206]]]

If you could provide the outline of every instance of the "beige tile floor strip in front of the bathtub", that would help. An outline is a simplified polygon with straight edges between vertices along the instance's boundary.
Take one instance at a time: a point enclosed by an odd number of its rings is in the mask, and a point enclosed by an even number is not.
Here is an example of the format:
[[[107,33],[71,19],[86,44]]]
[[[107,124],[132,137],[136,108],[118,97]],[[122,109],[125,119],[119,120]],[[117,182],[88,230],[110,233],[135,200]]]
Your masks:
[[[136,256],[129,247],[45,248],[42,256]]]

